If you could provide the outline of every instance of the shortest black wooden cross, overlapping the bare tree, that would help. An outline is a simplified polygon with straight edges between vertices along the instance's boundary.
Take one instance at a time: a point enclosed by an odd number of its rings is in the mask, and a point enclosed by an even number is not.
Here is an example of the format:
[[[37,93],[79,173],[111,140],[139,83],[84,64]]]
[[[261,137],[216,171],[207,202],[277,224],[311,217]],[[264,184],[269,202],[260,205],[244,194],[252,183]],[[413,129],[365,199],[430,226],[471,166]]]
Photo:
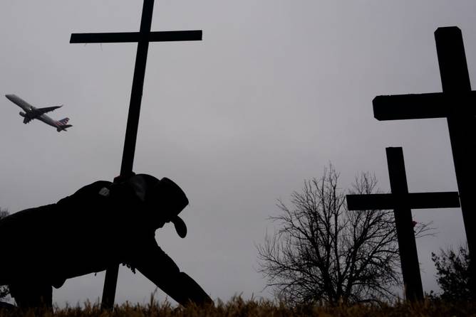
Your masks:
[[[460,207],[457,192],[408,193],[401,147],[386,148],[391,194],[347,195],[348,210],[393,209],[405,298],[423,300],[420,264],[413,232],[411,209]]]

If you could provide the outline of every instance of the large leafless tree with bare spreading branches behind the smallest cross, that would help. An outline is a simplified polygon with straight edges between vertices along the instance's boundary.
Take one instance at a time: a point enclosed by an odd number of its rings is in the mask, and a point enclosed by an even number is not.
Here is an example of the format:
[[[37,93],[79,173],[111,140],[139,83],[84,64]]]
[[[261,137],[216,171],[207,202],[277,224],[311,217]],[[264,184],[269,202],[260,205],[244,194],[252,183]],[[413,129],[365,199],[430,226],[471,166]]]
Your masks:
[[[322,178],[278,200],[274,235],[258,245],[259,272],[278,299],[299,303],[355,303],[393,299],[401,285],[392,210],[348,211],[339,174],[329,164]],[[350,193],[379,193],[375,176],[356,177]],[[415,233],[428,232],[419,225]]]

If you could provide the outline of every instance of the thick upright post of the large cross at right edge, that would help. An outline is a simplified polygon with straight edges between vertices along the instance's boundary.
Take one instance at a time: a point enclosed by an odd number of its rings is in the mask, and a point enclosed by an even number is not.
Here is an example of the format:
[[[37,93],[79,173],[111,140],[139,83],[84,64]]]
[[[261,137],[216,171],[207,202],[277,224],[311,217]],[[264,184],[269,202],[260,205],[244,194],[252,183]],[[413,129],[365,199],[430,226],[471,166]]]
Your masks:
[[[465,115],[474,112],[475,105],[465,100],[465,95],[471,92],[471,84],[460,28],[438,28],[435,41],[443,94],[462,96],[462,104],[453,105],[462,107],[461,113],[448,116],[447,124],[470,252],[470,289],[476,296],[476,117]]]

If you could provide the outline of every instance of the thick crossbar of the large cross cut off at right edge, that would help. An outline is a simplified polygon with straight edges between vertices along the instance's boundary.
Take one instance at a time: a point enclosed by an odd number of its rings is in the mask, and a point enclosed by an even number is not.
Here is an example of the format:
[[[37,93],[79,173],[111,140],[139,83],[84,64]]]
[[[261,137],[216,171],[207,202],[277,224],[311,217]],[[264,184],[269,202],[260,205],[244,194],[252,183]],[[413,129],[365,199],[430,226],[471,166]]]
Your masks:
[[[377,96],[372,104],[373,117],[380,121],[475,116],[476,91]]]

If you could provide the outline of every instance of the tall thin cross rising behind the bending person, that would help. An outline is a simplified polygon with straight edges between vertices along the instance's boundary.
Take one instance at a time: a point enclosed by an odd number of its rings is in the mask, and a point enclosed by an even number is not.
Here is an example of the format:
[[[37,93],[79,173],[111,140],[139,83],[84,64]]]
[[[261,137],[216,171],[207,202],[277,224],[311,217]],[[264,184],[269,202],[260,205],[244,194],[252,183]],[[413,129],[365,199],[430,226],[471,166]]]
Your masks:
[[[140,102],[143,95],[145,64],[149,42],[160,41],[201,41],[202,31],[162,31],[151,32],[152,11],[154,0],[144,0],[140,31],[132,33],[73,33],[70,43],[118,43],[137,42],[138,50],[135,58],[133,87],[130,94],[128,123],[125,131],[123,160],[120,166],[120,176],[127,177],[133,172],[135,141],[139,125]],[[108,246],[105,246],[108,247]],[[118,279],[118,266],[110,267],[105,275],[103,289],[103,308],[114,305],[115,288]]]

